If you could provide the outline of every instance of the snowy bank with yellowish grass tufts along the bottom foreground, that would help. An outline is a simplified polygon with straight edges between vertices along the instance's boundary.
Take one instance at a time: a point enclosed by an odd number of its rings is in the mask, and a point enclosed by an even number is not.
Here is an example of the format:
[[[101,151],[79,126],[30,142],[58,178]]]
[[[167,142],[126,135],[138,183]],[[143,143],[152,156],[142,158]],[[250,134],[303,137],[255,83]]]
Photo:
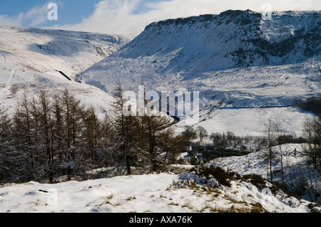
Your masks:
[[[10,213],[195,213],[195,212],[310,212],[305,200],[279,192],[266,195],[250,182],[230,187],[194,189],[182,181],[198,181],[186,173],[117,176],[59,184],[9,184],[0,187],[0,212]],[[39,191],[42,190],[42,191]],[[206,191],[207,190],[207,191]],[[210,191],[212,190],[212,191]],[[49,191],[45,193],[43,191]]]

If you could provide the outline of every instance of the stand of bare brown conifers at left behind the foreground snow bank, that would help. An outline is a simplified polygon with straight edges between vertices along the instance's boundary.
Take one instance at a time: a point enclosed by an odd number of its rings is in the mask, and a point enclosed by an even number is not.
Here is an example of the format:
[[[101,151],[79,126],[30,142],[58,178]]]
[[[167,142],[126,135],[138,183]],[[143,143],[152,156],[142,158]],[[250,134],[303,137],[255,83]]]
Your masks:
[[[24,98],[13,113],[0,110],[0,182],[86,179],[92,169],[114,174],[160,171],[186,146],[167,115],[132,117],[121,85],[103,117],[68,90]]]

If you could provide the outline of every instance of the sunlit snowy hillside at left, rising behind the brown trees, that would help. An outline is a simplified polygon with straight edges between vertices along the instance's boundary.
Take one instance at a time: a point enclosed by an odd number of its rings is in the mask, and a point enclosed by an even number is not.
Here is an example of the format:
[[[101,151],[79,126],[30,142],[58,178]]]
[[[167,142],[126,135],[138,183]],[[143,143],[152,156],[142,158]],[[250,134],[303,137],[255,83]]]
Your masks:
[[[12,110],[23,93],[31,96],[42,88],[50,94],[67,88],[88,104],[108,106],[111,100],[108,94],[70,81],[59,71],[74,80],[78,73],[117,51],[132,38],[0,26],[0,105]]]

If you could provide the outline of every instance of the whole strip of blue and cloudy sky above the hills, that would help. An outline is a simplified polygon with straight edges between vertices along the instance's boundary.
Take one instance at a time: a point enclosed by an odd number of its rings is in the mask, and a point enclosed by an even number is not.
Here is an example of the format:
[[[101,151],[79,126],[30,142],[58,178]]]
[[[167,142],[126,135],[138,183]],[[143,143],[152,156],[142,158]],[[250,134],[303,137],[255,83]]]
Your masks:
[[[56,4],[56,8],[49,5],[51,3]],[[220,14],[228,9],[320,11],[321,1],[0,0],[0,25],[138,35],[149,23],[155,21]]]

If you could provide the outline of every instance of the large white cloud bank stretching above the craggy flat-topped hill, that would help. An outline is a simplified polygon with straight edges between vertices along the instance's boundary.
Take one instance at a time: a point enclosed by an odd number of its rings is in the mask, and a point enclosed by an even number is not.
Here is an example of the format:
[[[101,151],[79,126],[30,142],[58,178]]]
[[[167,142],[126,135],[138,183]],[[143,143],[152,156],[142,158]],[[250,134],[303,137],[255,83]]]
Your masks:
[[[96,4],[96,9],[81,23],[56,28],[76,31],[91,31],[113,34],[138,34],[154,21],[219,14],[228,9],[250,9],[264,11],[264,3],[272,6],[272,11],[320,10],[320,0],[171,0],[146,3],[148,11],[135,14],[141,0],[104,0]]]

